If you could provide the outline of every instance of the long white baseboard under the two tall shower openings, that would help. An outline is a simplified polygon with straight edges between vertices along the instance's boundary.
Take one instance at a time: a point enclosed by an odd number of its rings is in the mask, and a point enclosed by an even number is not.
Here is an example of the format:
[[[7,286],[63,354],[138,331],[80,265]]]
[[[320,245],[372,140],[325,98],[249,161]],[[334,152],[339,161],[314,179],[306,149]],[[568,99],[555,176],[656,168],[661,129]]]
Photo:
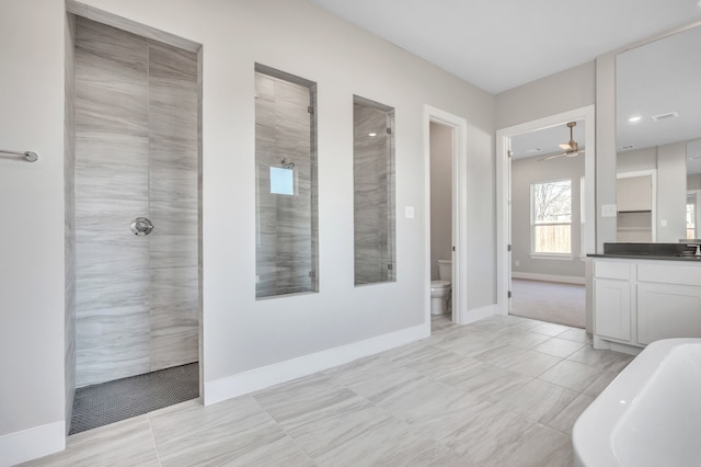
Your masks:
[[[343,365],[430,335],[430,322],[360,342],[317,352],[223,378],[205,381],[204,403],[210,406],[237,396]]]

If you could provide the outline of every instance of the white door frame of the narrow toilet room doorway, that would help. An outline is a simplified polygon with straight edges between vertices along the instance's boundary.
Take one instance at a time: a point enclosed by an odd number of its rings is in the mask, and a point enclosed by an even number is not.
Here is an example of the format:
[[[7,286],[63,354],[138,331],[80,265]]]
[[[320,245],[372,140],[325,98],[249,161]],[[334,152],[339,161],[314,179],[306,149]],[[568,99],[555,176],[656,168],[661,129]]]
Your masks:
[[[441,224],[439,231],[441,231],[443,240],[437,241],[437,252],[440,257],[446,255],[452,261],[451,266],[451,292],[450,292],[450,314],[447,315],[453,323],[462,324],[466,322],[467,317],[467,281],[464,280],[467,272],[467,133],[468,124],[464,118],[457,115],[452,115],[448,112],[441,111],[429,105],[424,110],[424,171],[425,171],[425,185],[426,185],[426,198],[425,198],[425,212],[426,225],[425,225],[425,280],[426,284],[426,299],[424,301],[424,309],[426,320],[425,322],[430,324],[430,281],[432,277],[437,276],[438,265],[437,260],[434,264],[432,258],[433,251],[433,238],[432,228],[438,229],[438,224],[434,225],[434,212],[432,209],[432,149],[436,143],[438,146],[443,146],[444,150],[447,150],[449,155],[446,157],[444,163],[443,178],[449,176],[451,190],[447,195],[450,198],[450,209],[441,209],[440,214],[436,212],[438,223]],[[432,134],[432,125],[434,129],[438,129],[438,133]],[[439,138],[438,141],[433,140],[433,137]],[[448,170],[448,166],[450,169]],[[446,196],[444,194],[443,196]],[[449,213],[449,214],[448,214]],[[445,224],[447,219],[450,219],[449,240],[447,240],[447,228]],[[449,243],[449,244],[447,244]],[[447,251],[446,251],[447,250]],[[449,255],[449,257],[448,257]]]

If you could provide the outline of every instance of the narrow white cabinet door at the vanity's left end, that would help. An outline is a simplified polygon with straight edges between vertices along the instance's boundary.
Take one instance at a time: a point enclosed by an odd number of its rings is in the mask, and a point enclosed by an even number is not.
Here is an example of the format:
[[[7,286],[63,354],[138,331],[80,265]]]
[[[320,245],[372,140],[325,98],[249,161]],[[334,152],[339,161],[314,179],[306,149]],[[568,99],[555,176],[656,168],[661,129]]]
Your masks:
[[[594,333],[630,341],[631,286],[628,281],[594,280]]]

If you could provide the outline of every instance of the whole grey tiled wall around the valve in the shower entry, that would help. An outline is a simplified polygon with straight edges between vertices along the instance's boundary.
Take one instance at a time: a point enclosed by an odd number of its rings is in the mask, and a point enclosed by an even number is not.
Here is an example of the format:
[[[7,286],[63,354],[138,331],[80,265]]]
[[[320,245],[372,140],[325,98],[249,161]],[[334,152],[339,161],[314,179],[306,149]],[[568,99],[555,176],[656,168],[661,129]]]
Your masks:
[[[198,360],[199,84],[193,52],[81,16],[74,44],[82,387]]]

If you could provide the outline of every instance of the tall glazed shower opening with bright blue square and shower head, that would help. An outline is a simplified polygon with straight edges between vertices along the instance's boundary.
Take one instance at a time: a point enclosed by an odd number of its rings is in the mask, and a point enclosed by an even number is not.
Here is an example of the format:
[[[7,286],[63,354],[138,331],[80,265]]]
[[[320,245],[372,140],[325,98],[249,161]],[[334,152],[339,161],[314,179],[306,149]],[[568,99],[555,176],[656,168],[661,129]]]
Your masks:
[[[255,296],[319,292],[317,84],[255,65]]]

